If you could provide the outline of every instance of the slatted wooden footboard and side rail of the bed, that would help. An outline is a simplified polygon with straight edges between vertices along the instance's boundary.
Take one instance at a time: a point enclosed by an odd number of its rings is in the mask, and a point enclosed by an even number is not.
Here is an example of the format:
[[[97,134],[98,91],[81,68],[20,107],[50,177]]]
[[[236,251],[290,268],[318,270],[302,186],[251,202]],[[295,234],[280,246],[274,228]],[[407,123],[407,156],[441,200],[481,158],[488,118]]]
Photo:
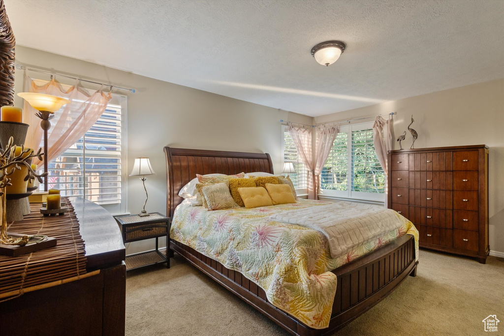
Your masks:
[[[383,300],[408,275],[415,275],[418,264],[414,238],[405,235],[333,270],[338,286],[331,322],[326,329],[313,329],[269,303],[265,291],[240,272],[174,240],[170,249],[290,333],[301,336],[330,334],[343,327]]]

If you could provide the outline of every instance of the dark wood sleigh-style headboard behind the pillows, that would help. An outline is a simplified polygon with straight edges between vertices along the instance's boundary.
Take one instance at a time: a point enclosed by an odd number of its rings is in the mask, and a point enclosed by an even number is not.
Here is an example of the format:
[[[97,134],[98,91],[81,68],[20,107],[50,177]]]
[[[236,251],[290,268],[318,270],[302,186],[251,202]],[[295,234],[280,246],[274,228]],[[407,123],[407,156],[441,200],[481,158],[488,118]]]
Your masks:
[[[171,217],[183,198],[180,189],[196,174],[238,174],[266,172],[273,174],[268,153],[225,152],[218,150],[164,147],[166,154],[166,215]]]

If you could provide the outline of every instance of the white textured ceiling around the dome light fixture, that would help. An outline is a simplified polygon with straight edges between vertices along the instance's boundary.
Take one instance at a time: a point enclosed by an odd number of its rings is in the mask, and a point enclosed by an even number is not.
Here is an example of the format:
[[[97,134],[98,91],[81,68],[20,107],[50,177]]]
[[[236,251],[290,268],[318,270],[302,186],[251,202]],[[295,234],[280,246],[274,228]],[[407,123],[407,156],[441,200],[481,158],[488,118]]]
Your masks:
[[[504,77],[500,0],[5,3],[21,45],[308,116]]]

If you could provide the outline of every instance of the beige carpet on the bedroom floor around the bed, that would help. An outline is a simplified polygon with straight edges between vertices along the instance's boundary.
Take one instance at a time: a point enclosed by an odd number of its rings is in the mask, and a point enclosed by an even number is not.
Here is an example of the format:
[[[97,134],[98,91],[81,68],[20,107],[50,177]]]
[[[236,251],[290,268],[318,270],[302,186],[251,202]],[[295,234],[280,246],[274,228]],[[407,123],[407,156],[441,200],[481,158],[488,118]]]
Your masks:
[[[128,273],[127,336],[288,334],[178,254],[171,265]],[[504,259],[422,249],[416,277],[335,335],[487,334],[490,314],[502,321],[493,334],[504,334]]]

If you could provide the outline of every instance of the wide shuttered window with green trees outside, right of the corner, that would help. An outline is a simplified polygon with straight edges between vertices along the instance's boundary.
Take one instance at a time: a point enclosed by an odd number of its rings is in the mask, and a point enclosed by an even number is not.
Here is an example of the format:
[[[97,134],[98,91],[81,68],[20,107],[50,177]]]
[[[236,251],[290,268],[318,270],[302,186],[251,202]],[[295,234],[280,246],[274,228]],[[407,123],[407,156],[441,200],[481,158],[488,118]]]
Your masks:
[[[385,174],[371,127],[372,123],[340,127],[320,176],[321,195],[384,200]]]

